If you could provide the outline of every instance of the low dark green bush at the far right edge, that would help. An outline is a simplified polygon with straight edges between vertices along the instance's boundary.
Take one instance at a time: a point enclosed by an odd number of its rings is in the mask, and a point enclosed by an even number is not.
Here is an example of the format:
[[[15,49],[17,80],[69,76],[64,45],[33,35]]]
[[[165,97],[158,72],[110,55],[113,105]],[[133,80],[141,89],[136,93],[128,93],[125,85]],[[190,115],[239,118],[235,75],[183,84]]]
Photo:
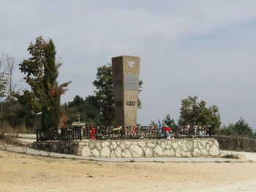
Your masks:
[[[222,126],[220,134],[233,135],[238,137],[250,137],[254,138],[255,133],[252,127],[245,122],[243,118],[240,118],[235,124],[230,123],[228,126]]]

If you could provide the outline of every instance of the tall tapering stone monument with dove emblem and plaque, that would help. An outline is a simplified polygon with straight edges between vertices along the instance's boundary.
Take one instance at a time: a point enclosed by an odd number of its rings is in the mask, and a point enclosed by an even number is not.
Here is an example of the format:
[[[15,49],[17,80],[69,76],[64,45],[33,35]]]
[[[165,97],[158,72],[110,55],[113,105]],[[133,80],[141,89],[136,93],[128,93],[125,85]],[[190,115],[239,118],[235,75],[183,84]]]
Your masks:
[[[140,58],[112,58],[116,126],[136,126]]]

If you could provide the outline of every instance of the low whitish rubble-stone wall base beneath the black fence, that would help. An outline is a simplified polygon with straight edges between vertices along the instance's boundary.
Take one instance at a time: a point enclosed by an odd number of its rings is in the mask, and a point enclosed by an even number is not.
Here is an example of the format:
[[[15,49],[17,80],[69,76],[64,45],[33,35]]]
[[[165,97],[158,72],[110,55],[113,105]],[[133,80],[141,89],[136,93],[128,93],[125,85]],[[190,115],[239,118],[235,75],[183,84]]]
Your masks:
[[[96,158],[219,157],[217,140],[138,139],[34,142],[31,147]]]

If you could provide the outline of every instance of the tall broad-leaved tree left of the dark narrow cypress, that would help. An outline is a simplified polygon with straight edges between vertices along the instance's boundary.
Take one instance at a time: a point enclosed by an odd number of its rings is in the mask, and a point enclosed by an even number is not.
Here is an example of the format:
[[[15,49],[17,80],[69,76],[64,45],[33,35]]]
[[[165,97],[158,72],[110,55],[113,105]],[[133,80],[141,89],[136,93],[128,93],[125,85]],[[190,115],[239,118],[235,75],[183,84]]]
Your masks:
[[[34,44],[31,42],[28,48],[31,58],[24,59],[20,63],[20,72],[26,74],[24,80],[29,84],[31,90],[23,91],[21,93],[15,93],[14,96],[18,99],[21,105],[20,115],[26,119],[26,125],[32,126],[34,120],[34,114],[41,112],[43,100],[43,72],[44,72],[44,49],[47,42],[43,37],[37,37]]]

